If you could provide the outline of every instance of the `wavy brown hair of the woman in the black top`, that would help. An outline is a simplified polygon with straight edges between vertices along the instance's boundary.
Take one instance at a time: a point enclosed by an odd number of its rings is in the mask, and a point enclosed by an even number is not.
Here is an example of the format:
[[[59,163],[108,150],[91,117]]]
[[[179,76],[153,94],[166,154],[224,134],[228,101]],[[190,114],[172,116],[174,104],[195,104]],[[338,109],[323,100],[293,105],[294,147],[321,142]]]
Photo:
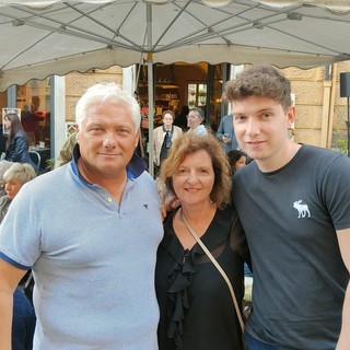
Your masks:
[[[231,199],[231,168],[224,150],[212,135],[187,132],[177,138],[161,166],[160,180],[165,184],[165,190],[174,194],[174,174],[188,154],[201,150],[210,155],[214,171],[214,185],[210,198],[218,208],[224,208]]]

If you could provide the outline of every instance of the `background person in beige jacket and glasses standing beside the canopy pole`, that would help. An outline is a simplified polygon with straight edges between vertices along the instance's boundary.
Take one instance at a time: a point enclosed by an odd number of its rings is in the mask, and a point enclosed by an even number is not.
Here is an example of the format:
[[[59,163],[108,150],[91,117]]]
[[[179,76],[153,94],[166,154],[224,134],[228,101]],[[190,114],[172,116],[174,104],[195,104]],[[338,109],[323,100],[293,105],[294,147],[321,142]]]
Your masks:
[[[162,115],[163,125],[153,130],[153,148],[154,148],[154,164],[156,173],[166,159],[172,143],[183,135],[179,127],[173,125],[175,115],[172,110],[164,110]]]

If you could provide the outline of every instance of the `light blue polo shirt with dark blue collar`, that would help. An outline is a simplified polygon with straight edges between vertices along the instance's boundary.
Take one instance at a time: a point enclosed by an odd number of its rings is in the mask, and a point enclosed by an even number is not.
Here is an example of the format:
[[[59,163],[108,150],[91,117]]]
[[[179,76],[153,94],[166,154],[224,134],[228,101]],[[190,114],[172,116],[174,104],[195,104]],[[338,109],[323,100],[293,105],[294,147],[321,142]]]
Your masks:
[[[33,269],[34,349],[158,349],[154,182],[135,155],[119,206],[73,155],[23,186],[0,226],[0,257]]]

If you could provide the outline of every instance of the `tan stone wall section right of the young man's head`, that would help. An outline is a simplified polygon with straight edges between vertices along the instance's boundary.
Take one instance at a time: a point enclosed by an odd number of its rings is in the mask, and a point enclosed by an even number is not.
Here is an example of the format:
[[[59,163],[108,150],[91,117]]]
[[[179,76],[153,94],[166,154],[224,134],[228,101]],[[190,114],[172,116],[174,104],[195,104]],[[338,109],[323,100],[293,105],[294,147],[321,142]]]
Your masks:
[[[295,93],[295,141],[337,148],[338,139],[347,139],[347,98],[340,97],[339,77],[350,71],[350,61],[332,65],[329,80],[325,80],[327,68],[283,72]]]

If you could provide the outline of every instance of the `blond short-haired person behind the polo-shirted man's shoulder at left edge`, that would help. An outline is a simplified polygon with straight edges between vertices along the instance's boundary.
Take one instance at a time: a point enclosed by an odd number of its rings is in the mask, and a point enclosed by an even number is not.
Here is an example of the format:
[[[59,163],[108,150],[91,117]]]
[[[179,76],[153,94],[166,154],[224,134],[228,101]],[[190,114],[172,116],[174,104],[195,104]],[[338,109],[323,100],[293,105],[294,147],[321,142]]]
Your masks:
[[[18,195],[22,186],[36,176],[36,172],[31,164],[12,163],[2,176],[5,195],[0,197],[0,223],[9,210],[13,198]]]

